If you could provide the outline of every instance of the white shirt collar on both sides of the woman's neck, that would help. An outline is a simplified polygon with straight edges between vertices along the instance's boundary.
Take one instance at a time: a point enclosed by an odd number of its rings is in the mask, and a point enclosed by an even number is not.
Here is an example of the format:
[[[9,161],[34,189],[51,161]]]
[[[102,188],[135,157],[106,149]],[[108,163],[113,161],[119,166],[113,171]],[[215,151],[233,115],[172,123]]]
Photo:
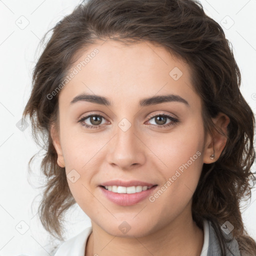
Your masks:
[[[64,241],[57,249],[54,256],[84,256],[87,239],[92,232],[92,227],[85,228],[76,236]],[[209,245],[209,222],[203,220],[203,246],[200,256],[207,256]]]

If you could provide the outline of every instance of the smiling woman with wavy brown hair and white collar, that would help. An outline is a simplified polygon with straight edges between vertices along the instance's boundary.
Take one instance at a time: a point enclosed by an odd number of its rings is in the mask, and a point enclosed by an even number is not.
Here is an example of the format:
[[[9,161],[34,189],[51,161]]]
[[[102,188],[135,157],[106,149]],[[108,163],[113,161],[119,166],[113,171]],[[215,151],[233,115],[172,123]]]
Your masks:
[[[193,0],[89,0],[53,28],[23,116],[42,135],[40,220],[59,255],[255,255],[239,202],[254,116],[222,28]],[[252,181],[252,184],[250,184]]]

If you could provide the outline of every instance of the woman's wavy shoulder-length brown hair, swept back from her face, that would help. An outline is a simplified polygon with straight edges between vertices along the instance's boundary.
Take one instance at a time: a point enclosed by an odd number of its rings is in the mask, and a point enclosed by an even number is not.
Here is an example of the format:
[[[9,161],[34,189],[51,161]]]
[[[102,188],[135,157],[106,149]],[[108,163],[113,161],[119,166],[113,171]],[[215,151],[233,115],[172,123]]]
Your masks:
[[[52,29],[33,70],[33,87],[23,112],[23,117],[29,115],[31,119],[33,138],[39,144],[38,135],[41,135],[45,150],[40,166],[46,176],[39,205],[43,227],[63,240],[62,216],[75,204],[65,169],[57,165],[50,136],[50,125],[58,124],[58,93],[51,99],[46,95],[62,83],[79,50],[86,50],[96,40],[149,41],[189,64],[193,87],[202,99],[205,131],[215,128],[211,117],[218,112],[230,118],[227,142],[220,157],[211,164],[203,164],[192,198],[192,217],[199,227],[203,218],[212,222],[222,256],[225,239],[220,226],[226,220],[234,226],[232,235],[240,251],[255,255],[256,243],[245,230],[239,209],[240,201],[250,198],[256,179],[250,171],[255,158],[255,119],[239,90],[240,71],[229,41],[221,26],[204,13],[201,3],[196,0],[89,0],[77,5]]]

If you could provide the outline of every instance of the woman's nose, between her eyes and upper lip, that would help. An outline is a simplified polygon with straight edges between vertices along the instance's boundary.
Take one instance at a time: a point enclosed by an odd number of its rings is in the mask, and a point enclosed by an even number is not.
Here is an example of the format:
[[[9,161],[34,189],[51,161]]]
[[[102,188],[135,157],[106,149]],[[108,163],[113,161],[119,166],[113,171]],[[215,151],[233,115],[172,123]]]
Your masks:
[[[134,165],[142,165],[145,162],[146,148],[143,142],[143,139],[135,134],[133,125],[126,131],[118,126],[114,137],[108,143],[107,162],[126,170],[134,168]]]

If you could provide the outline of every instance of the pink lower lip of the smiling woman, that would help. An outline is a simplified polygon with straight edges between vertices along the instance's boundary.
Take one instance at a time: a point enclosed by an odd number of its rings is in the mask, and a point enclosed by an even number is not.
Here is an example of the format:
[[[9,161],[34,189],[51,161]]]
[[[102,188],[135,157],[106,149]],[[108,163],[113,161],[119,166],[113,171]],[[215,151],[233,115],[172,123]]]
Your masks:
[[[133,205],[138,203],[139,201],[145,199],[146,197],[148,197],[150,195],[150,193],[152,193],[152,191],[157,187],[156,186],[152,186],[151,188],[141,191],[141,192],[137,192],[137,193],[131,193],[131,194],[127,194],[127,193],[115,193],[112,191],[109,191],[107,189],[105,189],[102,186],[99,186],[99,188],[101,189],[101,191],[103,192],[103,194],[112,202],[121,205],[121,206],[129,206],[129,205]]]

